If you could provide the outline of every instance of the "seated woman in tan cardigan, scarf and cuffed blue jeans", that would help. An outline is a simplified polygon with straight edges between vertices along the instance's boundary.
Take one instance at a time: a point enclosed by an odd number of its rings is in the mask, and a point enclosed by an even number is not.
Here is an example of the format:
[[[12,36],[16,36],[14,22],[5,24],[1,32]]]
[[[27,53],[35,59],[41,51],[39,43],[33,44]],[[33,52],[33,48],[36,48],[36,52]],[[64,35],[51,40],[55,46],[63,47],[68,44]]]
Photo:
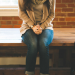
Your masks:
[[[53,40],[55,0],[18,0],[19,17],[23,20],[20,33],[28,47],[25,75],[34,75],[37,52],[40,75],[49,75],[49,44]]]

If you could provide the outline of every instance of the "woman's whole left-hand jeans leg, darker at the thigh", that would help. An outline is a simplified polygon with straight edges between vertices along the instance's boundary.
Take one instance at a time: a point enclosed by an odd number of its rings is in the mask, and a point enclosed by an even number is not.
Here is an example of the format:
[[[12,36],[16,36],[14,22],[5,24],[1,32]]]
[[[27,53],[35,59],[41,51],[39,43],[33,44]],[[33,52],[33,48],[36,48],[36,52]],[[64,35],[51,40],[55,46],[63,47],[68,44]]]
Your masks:
[[[22,40],[28,47],[25,74],[33,75],[37,55],[37,35],[32,31],[32,29],[28,29],[26,33],[22,35]]]

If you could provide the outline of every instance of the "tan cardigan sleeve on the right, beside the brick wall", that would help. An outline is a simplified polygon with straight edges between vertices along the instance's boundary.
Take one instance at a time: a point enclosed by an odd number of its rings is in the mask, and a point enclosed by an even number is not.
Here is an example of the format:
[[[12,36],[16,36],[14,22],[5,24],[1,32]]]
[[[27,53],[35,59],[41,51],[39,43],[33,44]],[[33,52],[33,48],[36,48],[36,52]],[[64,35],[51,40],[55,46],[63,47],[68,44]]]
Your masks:
[[[41,24],[41,28],[44,30],[46,27],[48,27],[48,24],[53,21],[55,18],[55,5],[56,5],[56,0],[52,0],[51,2],[51,7],[50,7],[50,13],[47,19]]]

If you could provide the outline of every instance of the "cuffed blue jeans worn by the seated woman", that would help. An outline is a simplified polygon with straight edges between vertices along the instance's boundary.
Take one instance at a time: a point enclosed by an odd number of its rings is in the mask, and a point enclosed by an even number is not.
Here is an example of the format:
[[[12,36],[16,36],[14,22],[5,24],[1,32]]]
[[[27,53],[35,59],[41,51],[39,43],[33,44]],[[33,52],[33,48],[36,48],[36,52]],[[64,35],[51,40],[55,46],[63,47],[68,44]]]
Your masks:
[[[40,74],[49,75],[49,44],[52,42],[53,36],[54,32],[50,29],[43,30],[39,35],[35,34],[32,29],[28,29],[22,35],[22,40],[28,47],[25,74],[34,73],[36,56],[39,51]]]

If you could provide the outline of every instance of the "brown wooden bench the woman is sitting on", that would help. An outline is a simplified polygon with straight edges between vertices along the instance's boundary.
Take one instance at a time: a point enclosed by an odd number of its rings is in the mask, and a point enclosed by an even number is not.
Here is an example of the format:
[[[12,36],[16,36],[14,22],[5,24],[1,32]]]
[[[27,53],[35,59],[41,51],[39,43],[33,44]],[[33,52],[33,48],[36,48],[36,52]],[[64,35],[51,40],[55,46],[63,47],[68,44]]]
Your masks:
[[[66,52],[63,67],[70,67],[72,49],[75,49],[75,28],[54,28],[54,38],[49,48],[49,54],[52,54],[52,67],[59,67],[60,50]],[[27,46],[21,39],[19,28],[0,28],[0,57],[26,56],[26,53]],[[0,70],[2,74],[2,68]]]

